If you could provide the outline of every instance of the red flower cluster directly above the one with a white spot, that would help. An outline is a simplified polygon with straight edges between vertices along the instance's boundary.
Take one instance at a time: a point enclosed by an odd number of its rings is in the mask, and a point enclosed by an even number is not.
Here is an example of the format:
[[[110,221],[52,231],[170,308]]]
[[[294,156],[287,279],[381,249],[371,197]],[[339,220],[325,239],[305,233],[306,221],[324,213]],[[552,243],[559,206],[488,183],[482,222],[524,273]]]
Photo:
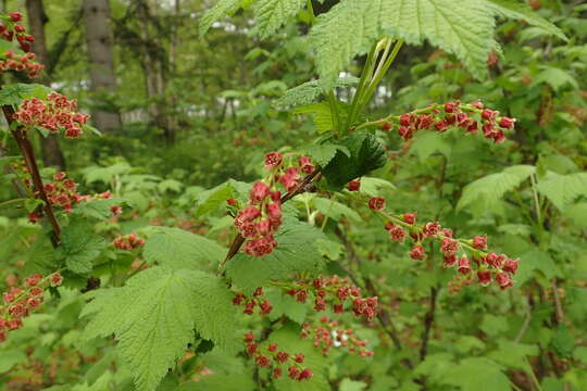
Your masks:
[[[314,310],[325,311],[327,304],[335,313],[345,312],[345,303],[351,301],[350,307],[357,317],[373,319],[377,314],[377,298],[361,298],[361,289],[349,282],[348,278],[332,276],[329,278],[317,277],[311,283],[298,282],[289,288],[286,293],[300,303],[305,303],[309,292],[314,297]]]

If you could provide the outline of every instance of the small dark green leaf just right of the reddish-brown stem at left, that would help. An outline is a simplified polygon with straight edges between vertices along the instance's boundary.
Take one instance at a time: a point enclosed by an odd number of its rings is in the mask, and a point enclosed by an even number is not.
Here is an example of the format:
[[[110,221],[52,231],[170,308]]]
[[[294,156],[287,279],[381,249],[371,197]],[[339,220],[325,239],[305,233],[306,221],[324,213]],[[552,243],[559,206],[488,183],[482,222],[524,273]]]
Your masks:
[[[91,272],[92,263],[105,248],[102,237],[93,234],[93,227],[85,220],[72,219],[61,231],[59,255],[65,258],[65,266],[76,274]]]

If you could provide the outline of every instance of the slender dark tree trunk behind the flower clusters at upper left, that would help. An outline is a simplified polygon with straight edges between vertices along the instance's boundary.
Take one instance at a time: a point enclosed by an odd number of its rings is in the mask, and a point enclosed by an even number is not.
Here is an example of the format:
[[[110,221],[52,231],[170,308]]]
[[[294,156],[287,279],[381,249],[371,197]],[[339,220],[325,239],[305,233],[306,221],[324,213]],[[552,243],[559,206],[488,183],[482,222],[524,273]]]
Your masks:
[[[28,14],[29,31],[35,37],[33,52],[37,55],[37,61],[49,68],[49,56],[47,55],[47,45],[45,41],[45,24],[49,21],[45,13],[42,0],[26,0],[26,11]],[[47,72],[41,73],[39,83],[49,86],[51,77]],[[58,166],[65,169],[65,157],[59,147],[55,135],[40,138],[42,163],[46,166]]]

